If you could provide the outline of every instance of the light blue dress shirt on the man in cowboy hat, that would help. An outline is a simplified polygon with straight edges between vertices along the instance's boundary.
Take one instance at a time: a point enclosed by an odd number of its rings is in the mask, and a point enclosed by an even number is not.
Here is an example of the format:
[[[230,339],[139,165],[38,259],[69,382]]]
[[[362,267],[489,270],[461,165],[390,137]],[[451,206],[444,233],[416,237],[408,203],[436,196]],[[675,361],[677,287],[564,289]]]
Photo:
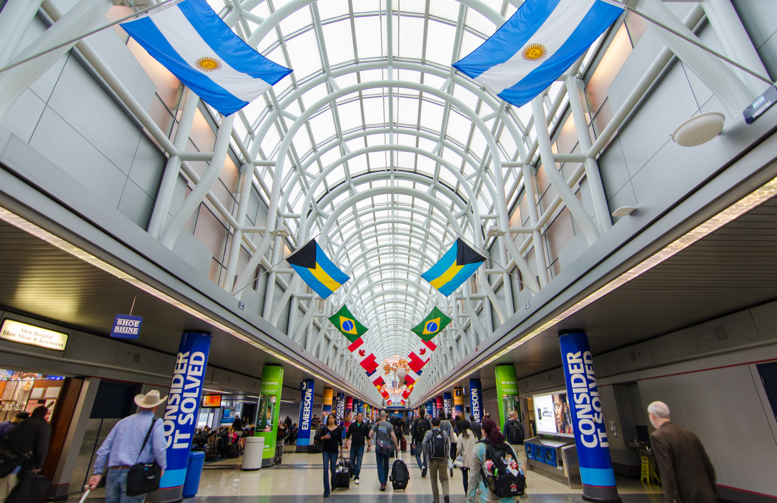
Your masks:
[[[135,463],[151,463],[156,460],[159,467],[165,470],[167,467],[167,442],[165,439],[165,427],[162,419],[157,419],[148,442],[141,453],[143,439],[151,426],[154,418],[152,411],[140,411],[138,414],[127,416],[116,423],[97,449],[94,474],[102,474],[103,467],[118,467],[120,465],[132,466]],[[140,453],[140,456],[138,456]]]

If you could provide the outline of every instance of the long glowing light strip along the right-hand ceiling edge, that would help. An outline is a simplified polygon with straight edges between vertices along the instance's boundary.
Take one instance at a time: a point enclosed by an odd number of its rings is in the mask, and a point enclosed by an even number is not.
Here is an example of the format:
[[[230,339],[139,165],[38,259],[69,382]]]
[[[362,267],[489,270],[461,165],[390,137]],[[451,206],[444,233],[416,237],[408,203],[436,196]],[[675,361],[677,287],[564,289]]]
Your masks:
[[[696,241],[699,241],[700,239],[706,237],[709,234],[712,234],[714,231],[717,231],[718,229],[720,229],[720,227],[723,227],[724,225],[728,224],[733,220],[736,220],[737,218],[744,215],[744,213],[747,213],[748,211],[752,210],[754,207],[759,206],[762,203],[765,203],[766,201],[768,201],[768,199],[772,199],[772,197],[774,196],[777,196],[777,178],[772,179],[770,182],[767,182],[764,186],[761,186],[761,188],[756,189],[754,192],[748,194],[747,196],[744,196],[742,199],[738,200],[736,203],[733,203],[731,206],[727,207],[725,210],[721,211],[720,213],[717,213],[714,217],[710,218],[709,220],[706,220],[706,222],[699,225],[699,227],[695,227],[695,229],[683,235],[681,238],[678,238],[677,240],[672,241],[669,245],[667,245],[667,247],[663,248],[660,251],[657,251],[655,254],[651,255],[650,258],[646,258],[645,260],[643,260],[643,262],[639,262],[638,265],[635,265],[634,267],[632,267],[632,269],[629,269],[628,271],[624,272],[621,276],[618,276],[617,278],[613,279],[610,283],[607,283],[605,286],[602,286],[599,290],[596,290],[594,293],[591,293],[591,295],[585,297],[583,300],[580,300],[579,302],[577,302],[577,304],[574,304],[569,309],[564,310],[561,314],[558,314],[557,316],[552,317],[548,321],[545,321],[545,323],[541,324],[538,328],[535,328],[534,330],[530,331],[527,335],[524,335],[524,337],[518,339],[517,342],[514,342],[513,344],[507,346],[506,349],[503,349],[502,351],[498,352],[496,355],[491,356],[489,359],[481,363],[479,366],[476,366],[470,372],[472,373],[472,372],[476,372],[479,369],[482,369],[484,366],[488,365],[489,363],[492,363],[494,360],[501,358],[502,356],[506,355],[508,352],[512,351],[513,349],[516,349],[518,346],[542,334],[543,331],[548,330],[549,328],[552,328],[556,324],[559,324],[560,321],[566,320],[566,318],[577,313],[577,311],[583,309],[584,307],[587,307],[590,304],[593,304],[597,300],[601,299],[601,297],[605,297],[605,295],[610,293],[612,290],[615,290],[618,287],[625,285],[625,283],[629,283],[629,281],[643,274],[643,272],[647,272],[650,269],[653,269],[653,267],[655,267],[656,265],[659,265],[661,262],[664,262],[665,260],[667,260],[667,258],[671,258],[678,252],[684,250],[685,248],[688,248],[688,246],[693,245]],[[452,380],[450,383],[446,383],[435,388],[434,391],[427,393],[426,396],[430,394],[437,394],[439,391],[443,390],[444,388],[452,386],[457,380],[458,379]]]

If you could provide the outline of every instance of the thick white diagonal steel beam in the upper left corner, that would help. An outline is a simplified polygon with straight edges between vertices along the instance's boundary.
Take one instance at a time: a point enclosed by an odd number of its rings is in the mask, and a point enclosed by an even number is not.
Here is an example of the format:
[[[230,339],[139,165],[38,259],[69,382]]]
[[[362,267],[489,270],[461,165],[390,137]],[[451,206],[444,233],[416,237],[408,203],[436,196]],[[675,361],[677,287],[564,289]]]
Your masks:
[[[95,27],[100,19],[103,19],[111,5],[110,0],[81,0],[11,62],[23,60],[25,57],[30,57],[88,32]],[[52,50],[48,54],[36,57],[0,74],[0,120],[5,117],[5,114],[8,113],[24,90],[30,87],[40,75],[44,75],[44,72],[51,68],[51,65],[63,54],[67,54],[74,45],[75,43],[68,43],[66,46]]]

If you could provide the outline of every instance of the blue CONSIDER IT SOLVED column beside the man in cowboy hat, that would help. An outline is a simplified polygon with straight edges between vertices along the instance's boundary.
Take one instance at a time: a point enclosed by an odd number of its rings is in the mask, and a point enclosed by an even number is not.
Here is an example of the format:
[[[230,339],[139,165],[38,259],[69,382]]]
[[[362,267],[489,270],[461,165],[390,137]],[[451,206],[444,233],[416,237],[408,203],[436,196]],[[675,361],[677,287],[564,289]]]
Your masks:
[[[172,369],[170,394],[165,404],[167,470],[159,481],[159,487],[163,489],[183,487],[210,352],[210,334],[186,332],[181,335],[176,366]]]

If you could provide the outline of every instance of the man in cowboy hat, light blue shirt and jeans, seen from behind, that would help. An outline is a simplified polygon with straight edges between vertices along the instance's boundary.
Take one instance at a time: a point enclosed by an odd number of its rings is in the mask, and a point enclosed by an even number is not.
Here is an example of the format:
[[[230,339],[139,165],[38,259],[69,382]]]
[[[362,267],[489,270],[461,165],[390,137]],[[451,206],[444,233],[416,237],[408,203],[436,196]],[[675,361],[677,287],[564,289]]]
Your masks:
[[[135,395],[135,403],[141,411],[117,422],[103,445],[97,449],[94,475],[89,478],[88,487],[89,489],[97,487],[103,477],[103,467],[107,467],[105,503],[143,503],[145,494],[127,496],[127,472],[135,463],[151,463],[152,460],[156,460],[162,469],[162,474],[165,473],[167,467],[165,427],[162,425],[162,419],[155,418],[154,413],[166,400],[167,397],[159,398],[158,390],[151,390],[145,395]],[[152,433],[148,436],[148,442],[141,453],[148,428],[152,428]]]

